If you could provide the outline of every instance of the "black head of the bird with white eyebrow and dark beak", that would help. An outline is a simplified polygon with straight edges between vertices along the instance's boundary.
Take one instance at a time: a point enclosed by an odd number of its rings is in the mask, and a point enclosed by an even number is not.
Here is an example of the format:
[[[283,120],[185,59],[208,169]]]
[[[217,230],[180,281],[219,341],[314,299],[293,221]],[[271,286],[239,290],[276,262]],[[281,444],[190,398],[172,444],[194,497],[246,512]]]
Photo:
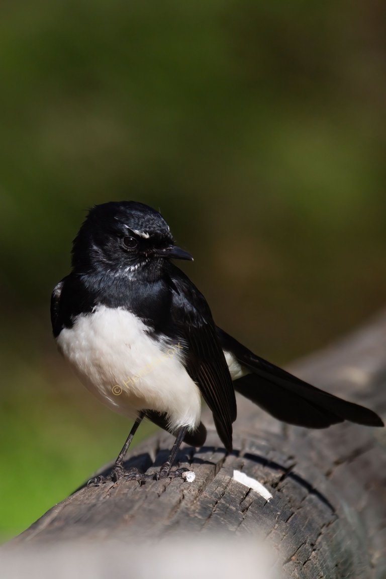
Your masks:
[[[73,240],[75,273],[137,277],[160,269],[168,258],[193,259],[174,244],[162,215],[135,201],[93,207]]]

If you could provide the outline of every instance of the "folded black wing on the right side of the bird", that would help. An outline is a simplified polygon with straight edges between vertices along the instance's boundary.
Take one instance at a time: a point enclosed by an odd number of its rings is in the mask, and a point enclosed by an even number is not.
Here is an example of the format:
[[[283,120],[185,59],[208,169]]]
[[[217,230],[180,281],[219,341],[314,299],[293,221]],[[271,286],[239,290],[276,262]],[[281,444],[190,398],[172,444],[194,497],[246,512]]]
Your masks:
[[[232,423],[236,397],[216,327],[204,296],[177,267],[170,263],[175,331],[185,345],[185,368],[211,409],[223,445],[232,449]]]

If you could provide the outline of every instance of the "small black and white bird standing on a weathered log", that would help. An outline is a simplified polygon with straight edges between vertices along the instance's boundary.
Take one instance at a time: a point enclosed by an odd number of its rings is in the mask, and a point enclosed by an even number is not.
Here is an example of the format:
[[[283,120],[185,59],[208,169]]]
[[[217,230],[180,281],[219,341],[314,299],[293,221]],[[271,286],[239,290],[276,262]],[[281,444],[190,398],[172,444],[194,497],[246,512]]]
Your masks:
[[[123,468],[144,417],[176,436],[156,478],[171,476],[181,442],[205,442],[201,398],[231,452],[235,390],[290,424],[383,426],[373,411],[303,382],[216,327],[204,296],[171,259],[192,256],[175,245],[158,211],[134,201],[101,204],[89,211],[73,241],[72,272],[52,294],[58,349],[87,389],[135,420],[113,479],[145,476]]]

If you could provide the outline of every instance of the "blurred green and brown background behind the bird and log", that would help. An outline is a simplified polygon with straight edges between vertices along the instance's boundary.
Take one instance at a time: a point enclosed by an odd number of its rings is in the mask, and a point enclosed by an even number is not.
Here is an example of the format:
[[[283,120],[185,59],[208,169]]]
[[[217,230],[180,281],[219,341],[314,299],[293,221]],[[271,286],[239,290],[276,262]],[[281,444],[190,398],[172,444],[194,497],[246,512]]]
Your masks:
[[[385,12],[1,2],[0,537],[115,458],[130,427],[50,334],[87,207],[160,207],[218,323],[280,364],[384,305]]]

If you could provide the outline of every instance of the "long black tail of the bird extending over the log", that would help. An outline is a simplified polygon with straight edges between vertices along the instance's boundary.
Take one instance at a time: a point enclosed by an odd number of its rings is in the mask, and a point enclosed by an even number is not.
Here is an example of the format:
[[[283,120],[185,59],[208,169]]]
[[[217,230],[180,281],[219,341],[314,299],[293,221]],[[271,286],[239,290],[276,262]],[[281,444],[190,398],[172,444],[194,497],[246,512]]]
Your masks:
[[[234,389],[275,418],[308,428],[326,428],[343,420],[384,426],[372,410],[307,384],[256,356],[220,328],[218,337],[223,349],[233,353],[242,367],[251,372],[234,380]]]

